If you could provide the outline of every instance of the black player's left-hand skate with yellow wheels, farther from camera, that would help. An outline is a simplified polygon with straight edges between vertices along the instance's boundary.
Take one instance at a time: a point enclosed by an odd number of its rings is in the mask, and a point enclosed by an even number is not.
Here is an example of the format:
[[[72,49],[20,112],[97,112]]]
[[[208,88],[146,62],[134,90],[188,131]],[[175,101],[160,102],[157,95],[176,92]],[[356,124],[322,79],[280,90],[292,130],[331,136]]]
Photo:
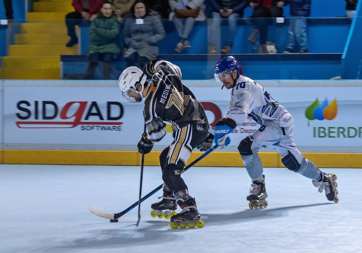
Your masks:
[[[162,198],[162,200],[151,205],[152,210],[150,214],[152,218],[157,216],[160,219],[169,219],[172,215],[177,214],[175,212],[177,209],[176,199],[169,190],[163,188],[163,196],[158,198]]]

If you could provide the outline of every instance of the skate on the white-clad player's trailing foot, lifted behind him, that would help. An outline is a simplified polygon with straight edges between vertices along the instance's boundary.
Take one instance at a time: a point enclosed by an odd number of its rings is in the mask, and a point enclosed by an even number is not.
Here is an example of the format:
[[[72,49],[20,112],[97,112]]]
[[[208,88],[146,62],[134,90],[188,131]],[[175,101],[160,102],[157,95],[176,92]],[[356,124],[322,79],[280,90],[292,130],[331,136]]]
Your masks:
[[[312,184],[318,187],[318,191],[325,192],[325,196],[329,201],[338,203],[338,190],[337,190],[337,175],[334,173],[321,172],[322,180],[312,180]]]

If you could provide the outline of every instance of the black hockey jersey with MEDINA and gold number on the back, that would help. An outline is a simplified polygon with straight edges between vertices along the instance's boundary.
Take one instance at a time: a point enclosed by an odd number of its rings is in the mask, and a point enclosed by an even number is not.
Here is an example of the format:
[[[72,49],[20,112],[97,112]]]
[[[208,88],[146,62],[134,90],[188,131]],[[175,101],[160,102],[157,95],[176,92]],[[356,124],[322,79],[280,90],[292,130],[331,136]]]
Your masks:
[[[166,124],[173,131],[195,124],[197,130],[207,131],[209,123],[206,113],[194,94],[181,82],[178,66],[159,60],[153,67],[150,88],[144,102],[143,117],[147,127],[147,138],[160,141],[166,134]]]

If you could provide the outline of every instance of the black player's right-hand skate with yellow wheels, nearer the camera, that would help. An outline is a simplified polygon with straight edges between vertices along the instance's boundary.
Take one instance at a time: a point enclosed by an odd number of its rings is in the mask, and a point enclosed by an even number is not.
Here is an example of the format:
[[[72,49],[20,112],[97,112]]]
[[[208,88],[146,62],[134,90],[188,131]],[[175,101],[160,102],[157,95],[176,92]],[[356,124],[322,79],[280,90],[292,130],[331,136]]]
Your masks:
[[[187,190],[186,190],[187,191]],[[180,191],[181,192],[181,191]],[[177,194],[175,194],[175,197]],[[177,203],[182,208],[182,211],[176,215],[171,217],[170,227],[172,229],[180,228],[194,228],[197,226],[198,228],[202,228],[204,226],[204,222],[200,220],[200,214],[197,210],[195,198],[191,198],[189,195],[185,198],[178,198]],[[181,203],[180,203],[181,202]]]

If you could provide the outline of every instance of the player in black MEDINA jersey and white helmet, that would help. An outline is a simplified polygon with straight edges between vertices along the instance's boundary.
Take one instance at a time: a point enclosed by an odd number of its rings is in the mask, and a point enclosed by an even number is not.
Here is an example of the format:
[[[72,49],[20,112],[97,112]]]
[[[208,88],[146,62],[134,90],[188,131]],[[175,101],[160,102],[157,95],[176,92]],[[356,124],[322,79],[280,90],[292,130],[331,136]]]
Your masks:
[[[200,102],[182,84],[180,68],[168,61],[153,60],[143,71],[137,67],[126,68],[118,84],[129,102],[141,102],[144,98],[147,130],[137,145],[139,153],[150,153],[153,143],[165,136],[165,121],[172,125],[174,140],[160,155],[163,197],[151,205],[151,216],[169,218],[173,214],[172,228],[203,227],[195,198],[190,196],[180,172],[191,151],[208,137],[209,124]],[[178,214],[174,212],[177,205],[182,209]]]

